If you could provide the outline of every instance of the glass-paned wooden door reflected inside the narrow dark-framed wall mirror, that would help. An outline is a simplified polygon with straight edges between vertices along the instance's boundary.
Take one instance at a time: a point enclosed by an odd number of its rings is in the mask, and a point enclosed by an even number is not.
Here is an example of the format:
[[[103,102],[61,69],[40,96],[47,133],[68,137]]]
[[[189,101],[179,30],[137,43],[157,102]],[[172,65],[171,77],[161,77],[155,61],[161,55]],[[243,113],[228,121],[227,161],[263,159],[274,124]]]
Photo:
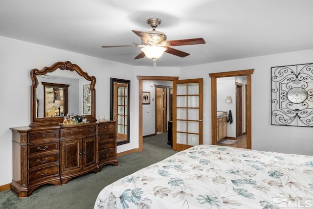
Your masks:
[[[128,84],[114,83],[114,121],[117,121],[117,139],[127,139]]]

